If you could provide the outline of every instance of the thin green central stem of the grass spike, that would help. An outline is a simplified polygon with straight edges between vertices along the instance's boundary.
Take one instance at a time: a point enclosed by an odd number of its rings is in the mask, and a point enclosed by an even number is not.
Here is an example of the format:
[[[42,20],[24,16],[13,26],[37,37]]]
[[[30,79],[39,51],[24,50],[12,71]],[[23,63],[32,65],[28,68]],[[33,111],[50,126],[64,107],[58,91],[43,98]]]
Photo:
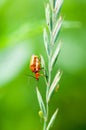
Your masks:
[[[54,1],[53,1],[54,2]],[[47,122],[48,122],[48,116],[49,116],[49,103],[48,103],[48,93],[49,93],[49,89],[50,89],[50,85],[51,85],[51,58],[52,58],[52,47],[53,47],[53,37],[52,37],[52,32],[53,32],[53,29],[54,29],[54,25],[55,25],[55,22],[56,22],[56,16],[55,16],[55,13],[54,13],[54,4],[53,3],[53,9],[52,9],[52,30],[50,31],[50,42],[49,42],[49,51],[50,51],[50,54],[48,56],[48,82],[47,82],[47,87],[46,87],[46,119],[44,119],[44,128],[43,130],[47,130]]]

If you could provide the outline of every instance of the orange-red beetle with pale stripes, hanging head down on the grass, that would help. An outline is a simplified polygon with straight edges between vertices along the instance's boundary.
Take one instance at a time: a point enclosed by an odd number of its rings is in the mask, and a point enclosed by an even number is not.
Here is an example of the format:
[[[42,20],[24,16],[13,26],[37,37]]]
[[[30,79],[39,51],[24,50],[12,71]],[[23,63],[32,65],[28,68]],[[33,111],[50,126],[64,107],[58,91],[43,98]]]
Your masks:
[[[40,74],[41,68],[41,59],[37,55],[32,55],[30,60],[30,69],[35,74],[34,77],[36,80],[39,80],[40,76],[44,76],[43,74]]]

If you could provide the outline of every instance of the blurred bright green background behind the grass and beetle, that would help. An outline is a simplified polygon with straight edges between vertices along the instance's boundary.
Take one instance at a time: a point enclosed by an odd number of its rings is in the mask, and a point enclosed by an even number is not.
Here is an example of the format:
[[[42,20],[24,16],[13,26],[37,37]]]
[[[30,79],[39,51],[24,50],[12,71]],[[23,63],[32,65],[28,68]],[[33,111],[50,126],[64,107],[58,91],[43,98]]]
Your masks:
[[[27,77],[30,56],[42,54],[44,0],[0,0],[0,130],[42,130],[35,87]],[[86,130],[86,0],[64,0],[59,38],[62,49],[54,68],[63,70],[60,89],[50,103],[59,113],[51,130]]]

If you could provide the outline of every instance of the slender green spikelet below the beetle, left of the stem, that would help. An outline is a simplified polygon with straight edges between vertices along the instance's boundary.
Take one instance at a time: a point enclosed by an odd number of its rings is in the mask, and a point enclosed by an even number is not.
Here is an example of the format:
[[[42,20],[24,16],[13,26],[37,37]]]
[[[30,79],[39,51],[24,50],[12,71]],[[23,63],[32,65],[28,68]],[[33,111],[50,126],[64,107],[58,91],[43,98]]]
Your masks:
[[[38,102],[39,102],[40,109],[41,109],[41,111],[43,112],[43,115],[46,116],[45,105],[44,105],[42,96],[41,96],[41,94],[40,94],[38,88],[36,88],[36,92],[37,92],[37,98],[38,98]]]

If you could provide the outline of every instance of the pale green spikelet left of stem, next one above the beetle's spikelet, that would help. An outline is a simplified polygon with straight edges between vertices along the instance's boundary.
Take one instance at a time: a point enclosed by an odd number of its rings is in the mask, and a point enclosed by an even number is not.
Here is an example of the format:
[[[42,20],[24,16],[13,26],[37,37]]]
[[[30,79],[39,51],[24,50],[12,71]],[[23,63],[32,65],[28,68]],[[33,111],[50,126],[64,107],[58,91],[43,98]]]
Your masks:
[[[47,31],[46,31],[46,28],[44,28],[43,37],[44,37],[45,49],[46,49],[47,55],[49,56],[49,54],[50,54],[49,39],[48,39],[48,34],[47,34]]]

